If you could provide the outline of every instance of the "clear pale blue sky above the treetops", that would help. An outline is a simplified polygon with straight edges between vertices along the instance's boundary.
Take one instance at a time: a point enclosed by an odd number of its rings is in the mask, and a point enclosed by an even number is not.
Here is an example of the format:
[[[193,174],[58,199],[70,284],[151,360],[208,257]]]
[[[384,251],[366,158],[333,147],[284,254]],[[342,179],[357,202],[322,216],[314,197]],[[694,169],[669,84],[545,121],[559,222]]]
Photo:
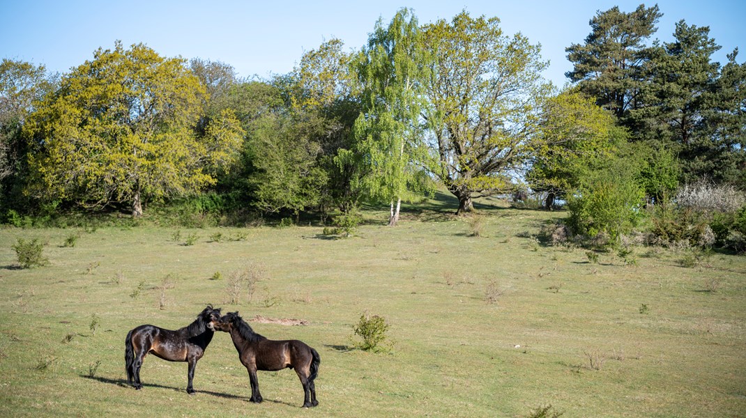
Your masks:
[[[466,9],[471,16],[498,16],[506,34],[520,31],[542,44],[551,65],[545,77],[561,86],[571,69],[565,48],[589,34],[597,10],[618,5],[632,11],[639,1],[379,0],[379,1],[37,1],[0,0],[0,58],[44,64],[53,72],[93,57],[98,47],[143,42],[166,57],[222,61],[239,76],[283,74],[304,51],[337,37],[360,48],[374,23],[389,22],[396,10],[411,7],[420,23],[450,20]],[[656,4],[646,3],[650,6]],[[746,60],[746,1],[658,1],[664,16],[653,38],[671,39],[674,25],[709,26],[723,48],[714,60],[741,47]]]

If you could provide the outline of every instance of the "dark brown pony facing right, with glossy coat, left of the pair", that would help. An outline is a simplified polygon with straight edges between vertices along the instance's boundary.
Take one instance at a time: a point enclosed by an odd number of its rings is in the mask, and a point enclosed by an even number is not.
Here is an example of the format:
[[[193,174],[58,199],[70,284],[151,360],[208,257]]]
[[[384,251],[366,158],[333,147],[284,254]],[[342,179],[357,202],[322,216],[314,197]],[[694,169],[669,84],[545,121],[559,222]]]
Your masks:
[[[193,323],[176,331],[154,325],[141,325],[128,332],[125,340],[127,380],[135,389],[142,389],[140,367],[142,359],[150,352],[163,360],[189,362],[189,383],[186,385],[186,393],[191,395],[194,393],[194,367],[204,355],[207,344],[213,339],[213,329],[207,328],[207,324],[219,319],[220,308],[207,305]]]

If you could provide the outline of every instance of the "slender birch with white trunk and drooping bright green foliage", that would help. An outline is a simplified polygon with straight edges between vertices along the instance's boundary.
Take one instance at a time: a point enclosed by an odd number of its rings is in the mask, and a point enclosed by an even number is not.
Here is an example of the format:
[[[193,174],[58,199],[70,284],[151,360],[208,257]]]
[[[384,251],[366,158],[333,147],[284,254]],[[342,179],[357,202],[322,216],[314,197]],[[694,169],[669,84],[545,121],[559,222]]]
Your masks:
[[[421,195],[431,182],[422,169],[427,156],[420,124],[424,52],[417,19],[399,10],[388,28],[379,20],[356,66],[362,109],[354,124],[354,149],[363,164],[363,188],[389,203],[389,226],[401,200]]]

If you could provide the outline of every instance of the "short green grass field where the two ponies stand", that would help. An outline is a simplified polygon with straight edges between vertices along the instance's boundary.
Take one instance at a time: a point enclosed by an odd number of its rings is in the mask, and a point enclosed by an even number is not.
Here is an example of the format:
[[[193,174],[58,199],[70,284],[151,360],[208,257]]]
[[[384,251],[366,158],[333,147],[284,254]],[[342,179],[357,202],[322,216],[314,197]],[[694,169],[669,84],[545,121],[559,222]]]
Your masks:
[[[483,206],[480,236],[434,204],[395,228],[366,212],[380,222],[336,240],[318,226],[2,229],[0,416],[529,417],[548,405],[562,417],[746,416],[746,257],[683,267],[681,253],[642,247],[636,265],[613,253],[591,263],[536,240],[565,213],[498,206]],[[49,264],[20,269],[18,238],[46,242]],[[244,291],[228,304],[245,268],[263,279],[251,303]],[[186,326],[208,303],[308,321],[252,326],[319,351],[319,407],[300,408],[290,370],[260,372],[265,402],[248,402],[224,333],[197,364],[194,396],[186,363],[154,356],[145,387],[128,387],[127,332]],[[348,349],[365,312],[386,318],[390,353]]]

